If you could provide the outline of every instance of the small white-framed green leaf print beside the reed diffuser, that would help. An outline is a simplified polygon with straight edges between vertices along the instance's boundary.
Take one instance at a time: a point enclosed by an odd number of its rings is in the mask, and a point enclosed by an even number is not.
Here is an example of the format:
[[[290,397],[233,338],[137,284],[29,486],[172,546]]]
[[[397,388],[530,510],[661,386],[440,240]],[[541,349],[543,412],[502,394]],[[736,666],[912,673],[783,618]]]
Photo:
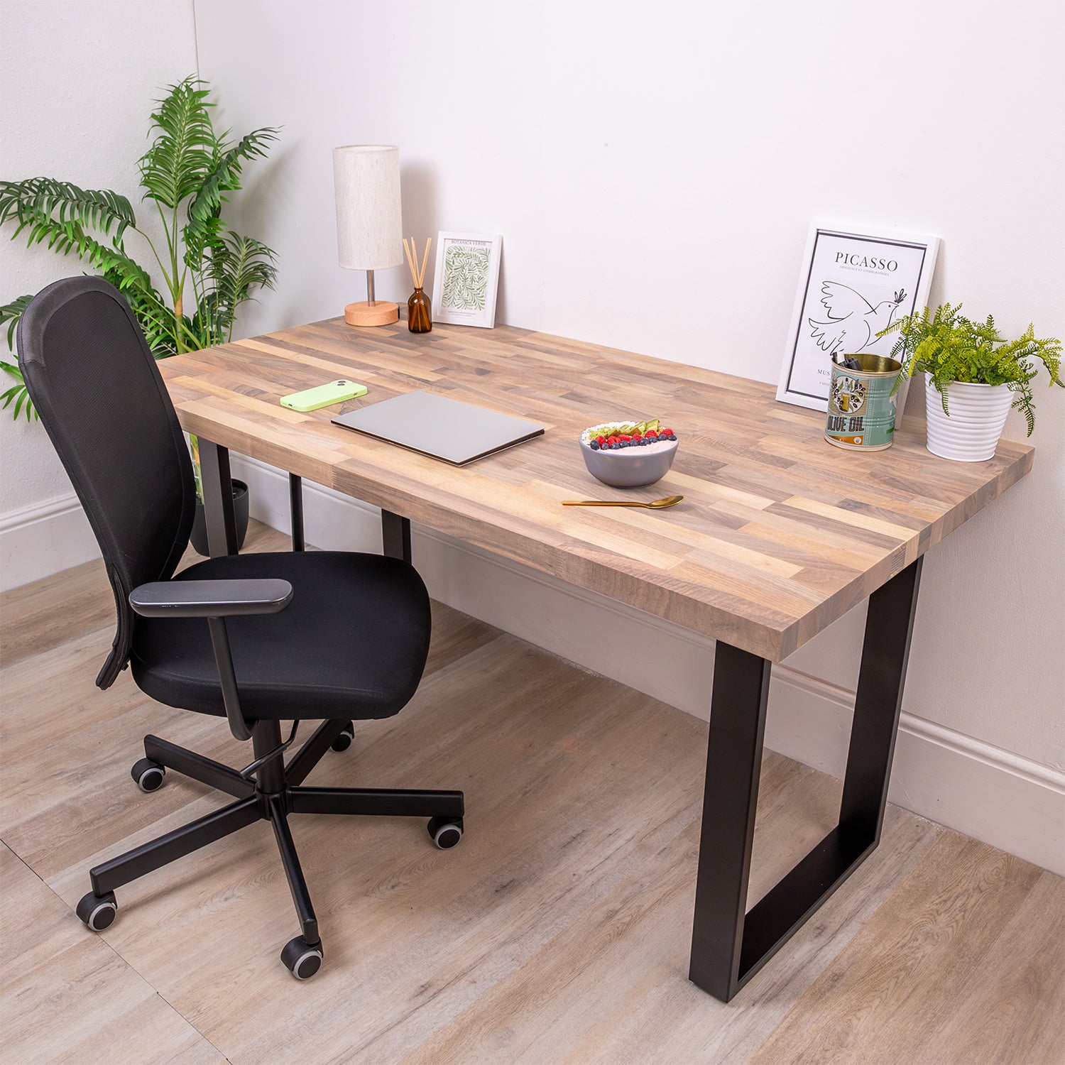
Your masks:
[[[492,329],[502,252],[498,234],[439,233],[432,321]]]

